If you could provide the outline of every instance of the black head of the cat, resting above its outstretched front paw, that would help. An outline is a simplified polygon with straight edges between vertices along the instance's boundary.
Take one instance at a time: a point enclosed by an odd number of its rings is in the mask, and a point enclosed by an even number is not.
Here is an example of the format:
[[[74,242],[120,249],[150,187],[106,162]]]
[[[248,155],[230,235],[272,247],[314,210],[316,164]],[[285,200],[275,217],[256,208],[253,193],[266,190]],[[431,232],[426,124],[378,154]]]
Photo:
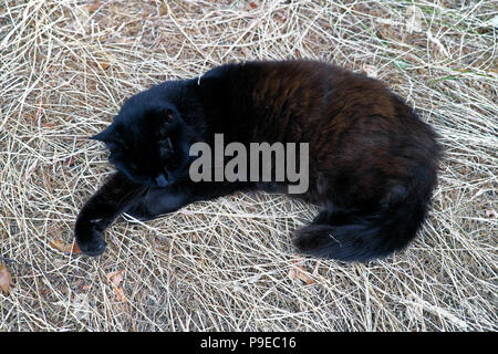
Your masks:
[[[173,105],[128,101],[113,123],[91,138],[106,144],[110,163],[134,183],[166,187],[187,173],[191,127]]]

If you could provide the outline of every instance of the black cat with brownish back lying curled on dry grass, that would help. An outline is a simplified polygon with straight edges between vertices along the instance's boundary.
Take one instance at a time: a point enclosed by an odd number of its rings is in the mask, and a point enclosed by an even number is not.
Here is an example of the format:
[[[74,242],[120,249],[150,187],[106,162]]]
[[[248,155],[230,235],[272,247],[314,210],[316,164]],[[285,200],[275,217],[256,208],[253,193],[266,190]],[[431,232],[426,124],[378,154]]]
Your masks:
[[[404,248],[424,221],[440,148],[433,129],[378,80],[313,61],[247,62],[168,81],[127,100],[94,138],[117,173],[84,205],[80,249],[104,251],[122,212],[149,220],[237,190],[283,191],[286,183],[194,183],[195,142],[309,143],[309,189],[323,210],[297,230],[299,251],[367,261]]]

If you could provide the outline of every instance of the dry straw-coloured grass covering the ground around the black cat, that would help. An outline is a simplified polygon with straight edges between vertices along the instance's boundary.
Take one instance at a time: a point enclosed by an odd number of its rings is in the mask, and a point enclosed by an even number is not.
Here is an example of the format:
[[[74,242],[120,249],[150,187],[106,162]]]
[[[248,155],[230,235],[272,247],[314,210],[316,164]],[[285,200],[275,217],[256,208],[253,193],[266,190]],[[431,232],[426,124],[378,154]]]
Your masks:
[[[2,1],[0,262],[14,285],[0,293],[0,330],[496,331],[497,8]],[[229,61],[286,58],[376,75],[439,132],[434,209],[405,252],[365,266],[302,258],[290,231],[317,209],[241,194],[153,222],[121,218],[96,259],[51,246],[72,242],[79,208],[111,173],[86,137],[125,97]]]

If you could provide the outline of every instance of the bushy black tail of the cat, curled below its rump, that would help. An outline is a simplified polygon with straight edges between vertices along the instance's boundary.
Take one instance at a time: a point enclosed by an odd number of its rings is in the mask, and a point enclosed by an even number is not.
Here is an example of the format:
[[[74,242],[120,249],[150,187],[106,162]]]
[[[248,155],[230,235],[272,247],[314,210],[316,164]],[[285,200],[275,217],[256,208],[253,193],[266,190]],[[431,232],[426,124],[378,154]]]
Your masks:
[[[293,243],[303,253],[341,261],[386,257],[415,237],[427,214],[428,189],[405,194],[401,202],[367,215],[338,208],[323,210],[311,225],[295,232]]]

